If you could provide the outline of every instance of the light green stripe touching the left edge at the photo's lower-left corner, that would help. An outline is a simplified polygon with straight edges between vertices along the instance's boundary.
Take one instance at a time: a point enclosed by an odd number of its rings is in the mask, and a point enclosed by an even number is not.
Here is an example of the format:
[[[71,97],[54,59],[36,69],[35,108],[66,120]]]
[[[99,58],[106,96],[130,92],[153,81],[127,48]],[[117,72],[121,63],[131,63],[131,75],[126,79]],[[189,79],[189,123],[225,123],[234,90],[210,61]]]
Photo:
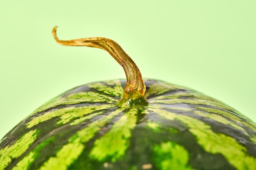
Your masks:
[[[36,140],[37,130],[31,130],[20,137],[13,145],[6,146],[0,150],[0,170],[11,163],[12,159],[22,155],[29,146]]]

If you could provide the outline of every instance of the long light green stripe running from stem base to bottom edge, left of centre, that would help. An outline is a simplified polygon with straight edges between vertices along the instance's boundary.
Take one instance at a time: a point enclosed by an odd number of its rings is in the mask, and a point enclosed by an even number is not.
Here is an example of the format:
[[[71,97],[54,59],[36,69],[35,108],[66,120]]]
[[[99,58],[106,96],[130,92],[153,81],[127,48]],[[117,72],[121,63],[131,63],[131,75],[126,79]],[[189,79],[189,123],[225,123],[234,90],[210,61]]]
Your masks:
[[[88,124],[84,129],[76,132],[75,135],[70,137],[69,143],[64,145],[56,154],[56,157],[50,157],[40,170],[67,170],[83,152],[87,141],[92,139],[94,135],[110,121],[115,115],[121,113],[124,109],[118,109],[107,116],[103,116],[91,124]]]

